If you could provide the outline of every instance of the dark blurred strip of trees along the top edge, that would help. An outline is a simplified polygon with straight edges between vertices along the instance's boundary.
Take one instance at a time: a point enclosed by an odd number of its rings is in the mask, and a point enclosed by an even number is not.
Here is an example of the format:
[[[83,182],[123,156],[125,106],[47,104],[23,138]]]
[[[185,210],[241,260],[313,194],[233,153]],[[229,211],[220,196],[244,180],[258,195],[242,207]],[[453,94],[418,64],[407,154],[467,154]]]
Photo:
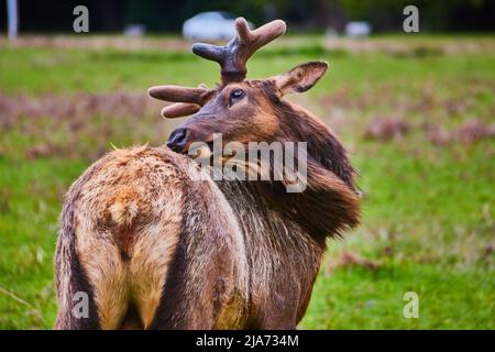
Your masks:
[[[6,0],[3,0],[6,1]],[[121,32],[142,24],[148,32],[178,32],[184,21],[199,12],[224,11],[244,15],[255,24],[284,19],[290,32],[343,31],[349,21],[369,21],[374,30],[397,31],[403,9],[414,4],[421,12],[424,31],[493,31],[495,4],[490,0],[18,0],[23,32],[70,32],[74,19],[67,13],[86,6],[91,32]],[[0,8],[0,29],[6,29],[7,7]]]

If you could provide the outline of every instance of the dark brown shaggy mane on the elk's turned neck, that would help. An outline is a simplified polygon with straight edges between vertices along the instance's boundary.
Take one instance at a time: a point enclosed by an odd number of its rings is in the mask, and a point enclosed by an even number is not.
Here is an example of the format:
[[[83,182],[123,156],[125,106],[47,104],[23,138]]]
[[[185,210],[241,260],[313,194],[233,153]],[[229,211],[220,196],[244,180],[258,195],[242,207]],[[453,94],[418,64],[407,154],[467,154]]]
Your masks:
[[[359,223],[354,169],[324,124],[286,102],[279,103],[278,113],[280,130],[271,142],[307,142],[307,188],[287,193],[284,182],[260,180],[252,182],[252,188],[283,218],[295,221],[324,245],[327,237],[339,237]]]

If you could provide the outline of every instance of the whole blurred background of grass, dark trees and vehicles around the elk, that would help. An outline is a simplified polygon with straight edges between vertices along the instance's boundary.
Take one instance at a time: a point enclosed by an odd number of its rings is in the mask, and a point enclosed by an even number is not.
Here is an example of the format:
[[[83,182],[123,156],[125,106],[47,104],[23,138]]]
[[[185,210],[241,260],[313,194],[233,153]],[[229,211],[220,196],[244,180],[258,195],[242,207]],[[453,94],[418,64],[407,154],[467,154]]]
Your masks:
[[[87,33],[73,29],[80,4]],[[409,4],[419,32],[403,30]],[[52,328],[67,188],[114,146],[164,144],[182,120],[162,119],[146,89],[213,86],[218,66],[190,45],[224,42],[242,15],[253,26],[288,24],[251,58],[249,78],[330,63],[311,91],[289,99],[341,138],[364,191],[362,226],[328,242],[299,328],[494,329],[494,7],[0,1],[0,328]],[[407,292],[419,297],[419,318],[403,314]]]

